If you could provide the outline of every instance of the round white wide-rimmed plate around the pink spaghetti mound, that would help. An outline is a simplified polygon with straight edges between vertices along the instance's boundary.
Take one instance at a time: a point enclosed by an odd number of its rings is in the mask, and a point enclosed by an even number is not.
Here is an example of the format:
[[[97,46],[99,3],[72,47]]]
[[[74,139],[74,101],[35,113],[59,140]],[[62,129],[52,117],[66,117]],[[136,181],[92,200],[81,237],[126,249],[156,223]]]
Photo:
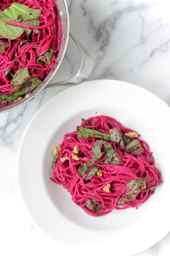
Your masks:
[[[81,117],[108,115],[138,131],[153,151],[163,183],[136,210],[113,210],[92,217],[73,203],[52,177],[53,148],[76,130]],[[154,245],[170,231],[170,108],[151,92],[127,82],[94,80],[69,87],[33,116],[18,150],[18,178],[34,222],[60,249],[76,254],[129,256]],[[67,244],[67,246],[65,246]]]

